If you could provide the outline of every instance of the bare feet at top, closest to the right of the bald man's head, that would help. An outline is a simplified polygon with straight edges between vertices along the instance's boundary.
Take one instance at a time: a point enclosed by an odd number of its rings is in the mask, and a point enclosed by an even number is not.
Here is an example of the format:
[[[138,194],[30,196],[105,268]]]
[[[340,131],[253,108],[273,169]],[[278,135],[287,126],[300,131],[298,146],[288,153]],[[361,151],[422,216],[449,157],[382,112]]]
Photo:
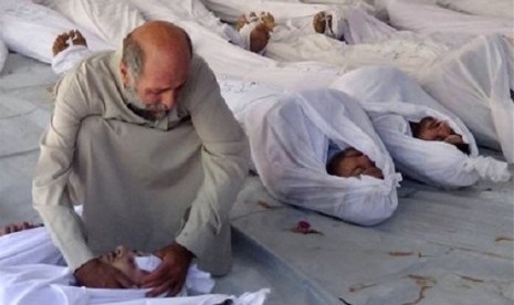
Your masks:
[[[250,33],[245,32],[245,25],[253,27]],[[249,35],[249,49],[255,53],[265,49],[273,28],[275,28],[275,19],[270,12],[260,12],[259,15],[255,12],[243,14],[235,24],[241,35]]]

